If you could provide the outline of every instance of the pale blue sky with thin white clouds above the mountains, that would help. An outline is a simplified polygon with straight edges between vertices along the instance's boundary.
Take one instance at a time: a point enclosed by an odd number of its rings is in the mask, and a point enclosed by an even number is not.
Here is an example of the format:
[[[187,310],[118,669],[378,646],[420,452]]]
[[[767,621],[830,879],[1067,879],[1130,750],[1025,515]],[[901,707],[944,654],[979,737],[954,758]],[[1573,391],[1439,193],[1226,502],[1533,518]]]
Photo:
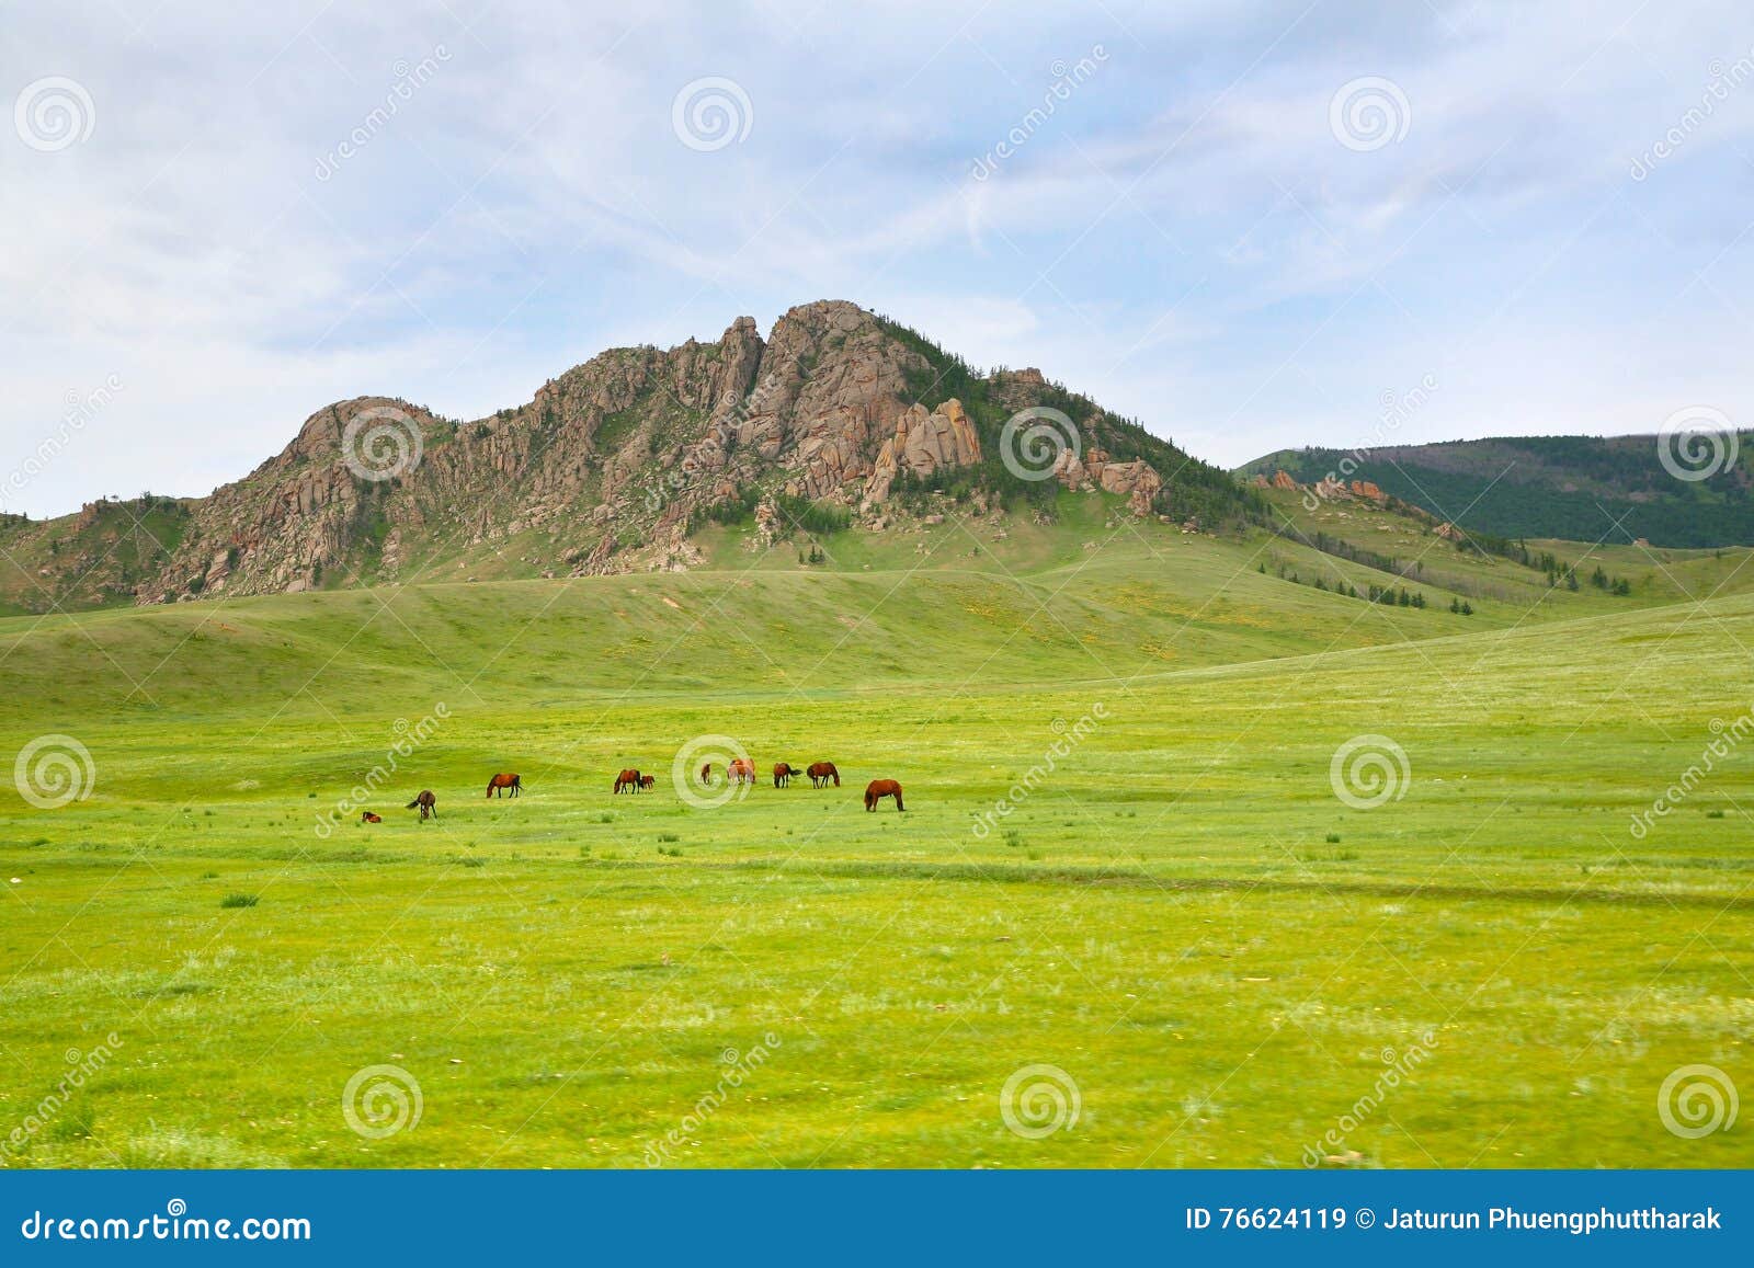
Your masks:
[[[1745,4],[0,5],[0,509],[845,298],[1200,458],[1747,426]]]

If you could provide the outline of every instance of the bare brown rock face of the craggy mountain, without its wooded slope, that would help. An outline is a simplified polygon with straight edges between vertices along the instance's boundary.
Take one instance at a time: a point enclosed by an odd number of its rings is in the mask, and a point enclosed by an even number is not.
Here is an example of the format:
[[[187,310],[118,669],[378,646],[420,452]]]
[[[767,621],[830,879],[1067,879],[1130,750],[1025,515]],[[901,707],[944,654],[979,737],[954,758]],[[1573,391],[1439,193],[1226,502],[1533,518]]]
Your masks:
[[[945,377],[979,400],[940,391]],[[737,317],[714,342],[609,349],[474,421],[393,396],[326,405],[251,475],[188,500],[135,596],[463,581],[489,558],[498,575],[691,566],[714,503],[759,495],[768,524],[781,493],[877,514],[907,475],[989,463],[982,435],[1005,414],[1068,402],[1082,398],[1040,370],[972,377],[854,303],[803,303],[766,338]],[[1079,409],[1084,456],[1061,484],[1152,510],[1158,470],[1110,459],[1105,416]]]

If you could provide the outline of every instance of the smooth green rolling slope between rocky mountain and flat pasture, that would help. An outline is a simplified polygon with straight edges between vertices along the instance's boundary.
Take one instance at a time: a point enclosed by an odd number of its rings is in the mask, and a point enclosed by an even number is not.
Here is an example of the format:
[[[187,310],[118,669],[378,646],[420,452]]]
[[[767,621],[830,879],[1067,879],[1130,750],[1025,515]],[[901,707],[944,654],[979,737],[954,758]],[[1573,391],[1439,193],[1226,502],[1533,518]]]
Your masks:
[[[1754,551],[1512,556],[1368,500],[1258,493],[1201,533],[1061,489],[821,537],[707,524],[682,572],[481,577],[0,619],[16,716],[293,714],[377,700],[856,695],[1152,675],[1754,589]],[[938,505],[954,505],[949,496]],[[940,523],[926,523],[928,519]],[[821,558],[812,561],[810,551]],[[1575,584],[1573,584],[1575,582]]]

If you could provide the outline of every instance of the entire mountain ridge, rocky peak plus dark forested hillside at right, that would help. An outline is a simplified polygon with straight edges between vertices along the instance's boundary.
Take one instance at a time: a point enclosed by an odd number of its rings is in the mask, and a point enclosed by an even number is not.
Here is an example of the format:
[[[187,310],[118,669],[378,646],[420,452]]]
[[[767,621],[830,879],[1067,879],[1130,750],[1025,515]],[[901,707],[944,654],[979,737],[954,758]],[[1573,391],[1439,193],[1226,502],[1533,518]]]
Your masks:
[[[707,342],[605,349],[479,419],[398,396],[333,402],[202,498],[0,516],[0,612],[686,572],[719,526],[742,526],[744,549],[789,538],[802,565],[835,566],[823,542],[844,530],[912,531],[951,512],[1052,523],[1065,489],[1184,530],[1284,533],[1296,498],[1272,510],[1277,488],[1428,516],[1417,531],[1459,524],[1487,551],[1489,538],[1754,542],[1754,477],[1735,449],[1677,479],[1658,444],[1305,447],[1231,474],[1040,370],[982,372],[889,317],[817,300],[765,337],[742,316]]]

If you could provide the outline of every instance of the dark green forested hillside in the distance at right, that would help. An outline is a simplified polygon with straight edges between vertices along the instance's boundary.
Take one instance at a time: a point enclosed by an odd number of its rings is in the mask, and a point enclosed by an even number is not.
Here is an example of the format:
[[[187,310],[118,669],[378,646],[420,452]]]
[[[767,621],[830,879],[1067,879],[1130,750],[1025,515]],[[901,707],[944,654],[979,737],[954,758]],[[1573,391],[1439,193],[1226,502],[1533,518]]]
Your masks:
[[[1328,474],[1368,481],[1438,519],[1508,538],[1749,545],[1754,544],[1750,442],[1754,437],[1742,435],[1738,459],[1701,481],[1672,475],[1659,461],[1654,435],[1284,449],[1258,458],[1240,474],[1272,477],[1284,470],[1300,484],[1316,484]]]

